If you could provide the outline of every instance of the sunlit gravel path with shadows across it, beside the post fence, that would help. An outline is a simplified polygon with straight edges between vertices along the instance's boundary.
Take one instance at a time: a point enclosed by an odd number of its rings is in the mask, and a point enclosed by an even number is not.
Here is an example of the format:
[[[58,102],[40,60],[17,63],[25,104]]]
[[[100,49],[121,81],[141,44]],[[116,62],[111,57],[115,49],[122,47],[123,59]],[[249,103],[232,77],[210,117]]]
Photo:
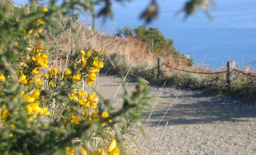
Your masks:
[[[102,78],[102,80],[101,80]],[[98,90],[112,99],[121,84],[120,76],[99,77]],[[129,80],[129,79],[127,79]],[[135,89],[136,82],[128,82],[128,91]],[[162,86],[150,86],[158,96]],[[153,131],[175,97],[180,96],[167,112],[142,155],[153,154],[162,131],[168,121],[157,154],[256,154],[256,103],[236,100],[231,97],[214,97],[202,91],[180,90],[164,87],[146,132]],[[117,94],[122,94],[122,87]],[[117,95],[113,104],[120,103]],[[150,105],[154,105],[151,101]],[[150,112],[142,118],[145,124]],[[139,133],[135,130],[135,133]],[[150,135],[150,134],[149,134]],[[141,138],[135,146],[138,150],[145,144]]]

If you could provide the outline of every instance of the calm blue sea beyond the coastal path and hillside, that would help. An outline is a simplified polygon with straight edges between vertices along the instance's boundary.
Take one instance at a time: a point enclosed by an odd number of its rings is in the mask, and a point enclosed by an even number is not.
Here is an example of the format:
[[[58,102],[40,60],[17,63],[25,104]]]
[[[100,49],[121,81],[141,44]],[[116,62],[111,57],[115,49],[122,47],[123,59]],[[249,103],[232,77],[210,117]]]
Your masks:
[[[116,29],[130,25],[143,25],[141,12],[151,0],[113,2],[114,20],[100,19],[112,34]],[[16,4],[27,0],[16,1]],[[201,10],[184,20],[184,13],[175,15],[186,0],[158,0],[159,18],[148,24],[157,27],[167,38],[174,40],[177,50],[189,54],[196,65],[205,64],[210,69],[235,60],[243,68],[256,61],[256,0],[214,0],[209,8],[214,21]],[[103,6],[96,7],[99,10]],[[84,15],[81,16],[83,18]],[[252,65],[256,68],[256,64]]]

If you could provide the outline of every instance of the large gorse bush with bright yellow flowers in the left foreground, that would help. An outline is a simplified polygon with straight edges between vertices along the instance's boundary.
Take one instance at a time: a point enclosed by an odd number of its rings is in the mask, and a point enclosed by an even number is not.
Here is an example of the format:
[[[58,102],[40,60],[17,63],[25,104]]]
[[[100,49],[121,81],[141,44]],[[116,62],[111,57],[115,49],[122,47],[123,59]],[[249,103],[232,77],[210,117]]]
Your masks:
[[[61,54],[55,38],[72,31],[78,17],[68,12],[87,3],[64,1],[56,6],[50,1],[43,8],[39,2],[22,7],[0,2],[0,154],[125,152],[122,134],[129,134],[148,108],[149,89],[139,81],[131,96],[123,96],[120,110],[112,111],[103,97],[100,103],[100,94],[88,93],[81,83],[93,85],[104,66],[103,48],[81,50],[80,59],[72,61],[68,52],[63,68],[55,66]],[[61,16],[68,22],[61,22]]]

